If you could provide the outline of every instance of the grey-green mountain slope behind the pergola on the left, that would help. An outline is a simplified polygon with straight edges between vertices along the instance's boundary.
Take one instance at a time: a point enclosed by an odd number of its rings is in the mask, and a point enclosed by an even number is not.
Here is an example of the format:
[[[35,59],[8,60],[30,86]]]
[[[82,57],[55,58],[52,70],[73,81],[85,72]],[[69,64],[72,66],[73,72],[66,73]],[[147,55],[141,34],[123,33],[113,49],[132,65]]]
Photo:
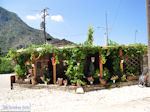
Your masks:
[[[46,34],[48,43],[61,43],[61,40]],[[0,7],[0,48],[7,52],[10,48],[25,48],[31,44],[43,44],[44,35],[41,30],[28,26],[17,14]],[[66,44],[66,43],[65,43]],[[64,45],[65,45],[64,44]]]

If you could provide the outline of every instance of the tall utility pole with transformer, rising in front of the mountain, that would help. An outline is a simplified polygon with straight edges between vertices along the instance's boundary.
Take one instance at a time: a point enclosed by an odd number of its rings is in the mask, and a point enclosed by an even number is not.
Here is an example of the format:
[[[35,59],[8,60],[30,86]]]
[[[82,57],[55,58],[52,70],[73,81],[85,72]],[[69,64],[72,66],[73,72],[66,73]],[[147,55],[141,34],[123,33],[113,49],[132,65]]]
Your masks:
[[[40,24],[41,29],[43,30],[43,34],[44,34],[44,43],[46,44],[46,16],[48,16],[48,8],[43,9],[41,12],[41,18],[42,18],[42,22]]]

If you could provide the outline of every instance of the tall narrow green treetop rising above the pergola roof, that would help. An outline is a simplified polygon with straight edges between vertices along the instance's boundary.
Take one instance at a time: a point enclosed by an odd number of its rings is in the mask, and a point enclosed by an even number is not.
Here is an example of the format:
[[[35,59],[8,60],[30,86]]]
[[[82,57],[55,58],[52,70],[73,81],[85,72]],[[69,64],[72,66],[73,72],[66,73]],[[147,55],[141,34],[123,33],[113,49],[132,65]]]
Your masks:
[[[90,26],[89,29],[88,29],[88,37],[87,37],[87,40],[85,41],[85,45],[87,46],[93,46],[93,33],[94,33],[94,30],[93,30],[93,27]]]

